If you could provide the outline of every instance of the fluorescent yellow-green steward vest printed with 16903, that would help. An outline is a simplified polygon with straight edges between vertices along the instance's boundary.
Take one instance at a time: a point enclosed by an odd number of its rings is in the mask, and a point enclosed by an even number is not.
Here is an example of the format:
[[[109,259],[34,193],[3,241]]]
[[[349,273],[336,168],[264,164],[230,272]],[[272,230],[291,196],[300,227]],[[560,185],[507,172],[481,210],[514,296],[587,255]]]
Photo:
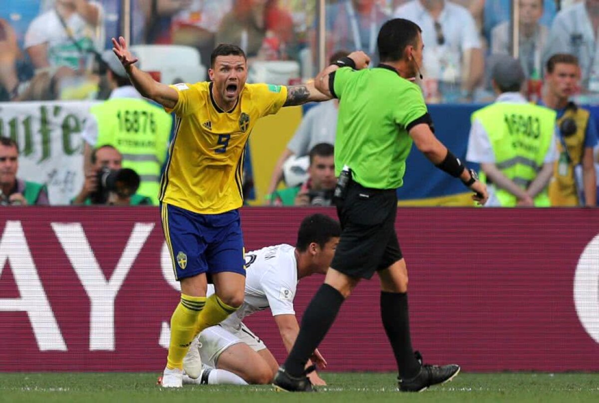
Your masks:
[[[543,166],[555,132],[555,116],[555,111],[538,105],[496,102],[475,111],[471,120],[478,119],[489,135],[497,168],[527,189]],[[480,178],[486,181],[483,172]],[[495,190],[503,207],[514,207],[518,202],[507,190]],[[551,205],[547,189],[535,196],[534,205]]]

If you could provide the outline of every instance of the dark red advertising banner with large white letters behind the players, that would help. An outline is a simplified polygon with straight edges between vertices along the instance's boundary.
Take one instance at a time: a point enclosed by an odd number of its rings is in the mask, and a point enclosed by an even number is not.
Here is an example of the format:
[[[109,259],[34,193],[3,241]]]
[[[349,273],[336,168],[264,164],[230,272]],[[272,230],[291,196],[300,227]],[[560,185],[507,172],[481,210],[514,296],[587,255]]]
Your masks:
[[[246,249],[294,244],[314,211],[244,208]],[[396,226],[426,362],[599,370],[599,210],[405,208]],[[164,368],[179,292],[158,209],[3,208],[0,237],[0,371]],[[299,284],[298,314],[320,283]],[[282,360],[269,313],[247,324]],[[320,351],[332,371],[395,369],[376,277],[344,303]]]

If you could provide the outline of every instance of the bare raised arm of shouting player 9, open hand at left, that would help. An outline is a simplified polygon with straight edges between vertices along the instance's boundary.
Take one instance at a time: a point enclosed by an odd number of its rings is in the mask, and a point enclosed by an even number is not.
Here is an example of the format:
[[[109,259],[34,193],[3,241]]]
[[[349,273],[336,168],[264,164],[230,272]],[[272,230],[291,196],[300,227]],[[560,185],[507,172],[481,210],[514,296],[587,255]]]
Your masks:
[[[125,38],[119,37],[118,41],[112,38],[112,43],[113,52],[125,68],[135,89],[144,97],[158,102],[165,108],[173,109],[179,101],[179,93],[166,84],[159,83],[150,74],[134,66],[138,59],[127,49]]]

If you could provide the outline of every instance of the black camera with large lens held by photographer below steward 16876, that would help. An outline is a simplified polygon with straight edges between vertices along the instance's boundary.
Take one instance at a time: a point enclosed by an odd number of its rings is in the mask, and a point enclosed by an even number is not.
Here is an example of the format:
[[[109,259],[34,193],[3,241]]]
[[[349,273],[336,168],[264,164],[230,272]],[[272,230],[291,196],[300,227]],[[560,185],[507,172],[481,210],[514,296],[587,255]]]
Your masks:
[[[106,204],[110,192],[119,197],[131,197],[140,187],[140,175],[133,169],[110,169],[103,166],[97,174],[98,187],[89,197],[92,204]]]

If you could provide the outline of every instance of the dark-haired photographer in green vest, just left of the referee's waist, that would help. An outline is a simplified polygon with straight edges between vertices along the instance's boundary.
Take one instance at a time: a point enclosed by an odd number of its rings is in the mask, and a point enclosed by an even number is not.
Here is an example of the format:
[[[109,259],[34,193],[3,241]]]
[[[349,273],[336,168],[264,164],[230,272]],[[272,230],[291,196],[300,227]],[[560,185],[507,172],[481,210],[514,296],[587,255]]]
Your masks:
[[[333,151],[331,144],[316,144],[310,150],[308,180],[301,186],[279,190],[271,198],[271,204],[331,205],[333,192],[337,186]]]

